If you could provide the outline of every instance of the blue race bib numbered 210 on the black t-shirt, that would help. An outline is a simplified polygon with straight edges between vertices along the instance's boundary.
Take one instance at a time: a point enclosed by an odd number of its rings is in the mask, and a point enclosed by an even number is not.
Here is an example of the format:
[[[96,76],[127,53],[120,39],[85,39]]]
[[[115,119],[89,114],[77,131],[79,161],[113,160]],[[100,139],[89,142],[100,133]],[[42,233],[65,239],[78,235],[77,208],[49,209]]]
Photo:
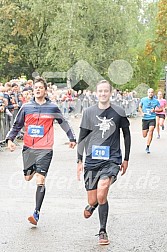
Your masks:
[[[109,159],[110,146],[92,145],[92,159]]]

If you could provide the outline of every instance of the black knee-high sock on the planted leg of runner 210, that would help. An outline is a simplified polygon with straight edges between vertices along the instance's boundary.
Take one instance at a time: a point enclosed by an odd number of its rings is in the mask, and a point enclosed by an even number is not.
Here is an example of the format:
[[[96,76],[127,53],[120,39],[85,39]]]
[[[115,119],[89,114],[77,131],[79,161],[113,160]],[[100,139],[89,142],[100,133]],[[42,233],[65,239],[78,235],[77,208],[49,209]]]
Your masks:
[[[103,204],[99,205],[99,220],[100,220],[100,232],[104,231],[106,232],[106,224],[107,224],[107,218],[108,218],[108,201]]]

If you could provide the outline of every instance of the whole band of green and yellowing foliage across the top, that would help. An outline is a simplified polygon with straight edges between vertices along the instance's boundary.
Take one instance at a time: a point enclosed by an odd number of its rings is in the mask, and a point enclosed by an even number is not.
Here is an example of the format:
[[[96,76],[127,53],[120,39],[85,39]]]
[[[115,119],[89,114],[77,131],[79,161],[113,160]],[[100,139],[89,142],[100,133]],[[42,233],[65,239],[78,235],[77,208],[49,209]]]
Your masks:
[[[32,78],[33,72],[67,72],[81,60],[109,79],[110,64],[124,59],[131,64],[134,75],[120,88],[131,90],[141,82],[156,86],[162,52],[155,50],[152,43],[156,36],[157,4],[142,3],[1,0],[1,79],[21,74]],[[160,35],[162,30],[158,27]],[[82,75],[77,68],[76,75]]]

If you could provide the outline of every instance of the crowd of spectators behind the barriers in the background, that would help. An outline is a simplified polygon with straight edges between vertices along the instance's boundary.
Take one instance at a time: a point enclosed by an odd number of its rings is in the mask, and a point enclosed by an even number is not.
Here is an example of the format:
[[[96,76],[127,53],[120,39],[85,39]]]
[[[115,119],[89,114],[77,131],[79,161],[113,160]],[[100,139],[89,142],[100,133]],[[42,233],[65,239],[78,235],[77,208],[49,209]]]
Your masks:
[[[65,117],[73,114],[75,117],[82,114],[87,107],[97,103],[96,92],[90,90],[59,89],[56,85],[48,83],[48,97],[55,102]],[[9,131],[13,120],[22,106],[33,96],[33,80],[24,83],[20,80],[11,80],[5,84],[0,83],[0,145],[3,145],[5,135]],[[135,116],[139,99],[135,98],[134,92],[114,89],[111,102],[123,107],[127,116]],[[22,134],[18,135],[22,138]]]

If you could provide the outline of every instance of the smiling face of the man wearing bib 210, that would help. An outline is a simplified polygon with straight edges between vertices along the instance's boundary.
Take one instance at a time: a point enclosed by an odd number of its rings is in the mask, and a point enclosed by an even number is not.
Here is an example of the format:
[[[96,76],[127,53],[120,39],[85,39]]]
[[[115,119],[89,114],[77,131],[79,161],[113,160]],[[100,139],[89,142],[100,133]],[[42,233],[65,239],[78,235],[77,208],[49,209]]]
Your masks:
[[[100,103],[107,103],[110,100],[111,91],[108,83],[101,83],[97,86],[97,97]]]

